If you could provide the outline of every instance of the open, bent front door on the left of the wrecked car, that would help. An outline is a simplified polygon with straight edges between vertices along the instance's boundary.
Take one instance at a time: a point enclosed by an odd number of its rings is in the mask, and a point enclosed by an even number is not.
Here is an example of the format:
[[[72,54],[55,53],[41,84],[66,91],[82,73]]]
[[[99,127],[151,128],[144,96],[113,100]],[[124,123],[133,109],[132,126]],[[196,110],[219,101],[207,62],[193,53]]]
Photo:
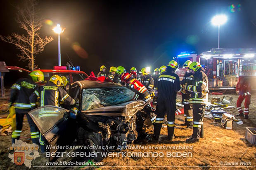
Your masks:
[[[74,119],[69,119],[69,110],[56,106],[42,106],[31,110],[31,116],[40,133],[45,137],[50,146],[50,152],[56,152],[53,146],[69,144],[74,140],[76,126]],[[72,133],[73,132],[73,133]],[[53,158],[50,158],[52,161]]]

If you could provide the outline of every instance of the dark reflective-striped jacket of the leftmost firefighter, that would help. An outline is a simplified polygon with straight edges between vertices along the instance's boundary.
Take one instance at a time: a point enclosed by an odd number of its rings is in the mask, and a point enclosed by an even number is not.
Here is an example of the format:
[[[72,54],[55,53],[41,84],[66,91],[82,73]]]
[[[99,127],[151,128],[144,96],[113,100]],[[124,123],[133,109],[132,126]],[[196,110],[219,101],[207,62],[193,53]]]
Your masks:
[[[31,77],[19,79],[11,87],[11,97],[9,102],[14,103],[15,110],[19,113],[27,113],[31,109],[29,96],[38,86]]]

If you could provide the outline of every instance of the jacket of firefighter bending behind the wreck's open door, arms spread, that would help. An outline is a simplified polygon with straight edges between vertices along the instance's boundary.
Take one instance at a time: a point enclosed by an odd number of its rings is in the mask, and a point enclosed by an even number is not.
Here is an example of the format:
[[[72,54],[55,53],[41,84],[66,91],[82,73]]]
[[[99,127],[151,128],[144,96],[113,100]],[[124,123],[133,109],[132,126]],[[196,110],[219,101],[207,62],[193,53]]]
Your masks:
[[[37,98],[40,98],[40,106],[52,105],[59,106],[59,102],[64,105],[74,105],[76,100],[71,98],[69,94],[60,86],[49,82],[43,86],[39,86],[29,97],[31,109],[36,108]]]

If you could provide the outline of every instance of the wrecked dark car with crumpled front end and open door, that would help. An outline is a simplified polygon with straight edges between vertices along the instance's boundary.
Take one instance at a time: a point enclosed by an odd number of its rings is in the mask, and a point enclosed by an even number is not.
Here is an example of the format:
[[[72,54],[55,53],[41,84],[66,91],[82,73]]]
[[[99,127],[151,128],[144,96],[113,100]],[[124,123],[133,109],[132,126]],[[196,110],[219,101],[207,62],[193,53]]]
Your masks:
[[[143,114],[147,104],[133,100],[133,91],[112,82],[84,80],[71,84],[69,95],[78,101],[76,109],[46,105],[28,112],[50,146],[76,141],[77,145],[101,146],[89,151],[103,152],[110,149],[102,146],[116,150],[137,139],[136,113]],[[102,159],[98,156],[97,161]]]

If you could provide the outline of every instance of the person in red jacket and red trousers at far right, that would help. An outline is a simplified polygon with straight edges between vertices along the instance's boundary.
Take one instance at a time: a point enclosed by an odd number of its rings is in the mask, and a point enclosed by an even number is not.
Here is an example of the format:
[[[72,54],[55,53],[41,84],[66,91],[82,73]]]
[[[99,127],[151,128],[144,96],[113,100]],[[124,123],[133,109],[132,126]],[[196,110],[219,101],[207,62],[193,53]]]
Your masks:
[[[237,116],[244,116],[244,119],[248,119],[249,105],[251,104],[251,84],[247,79],[242,79],[241,82],[237,83],[236,87],[237,94],[239,97],[237,99],[237,111],[239,114]],[[241,107],[243,100],[244,102],[244,114]]]

